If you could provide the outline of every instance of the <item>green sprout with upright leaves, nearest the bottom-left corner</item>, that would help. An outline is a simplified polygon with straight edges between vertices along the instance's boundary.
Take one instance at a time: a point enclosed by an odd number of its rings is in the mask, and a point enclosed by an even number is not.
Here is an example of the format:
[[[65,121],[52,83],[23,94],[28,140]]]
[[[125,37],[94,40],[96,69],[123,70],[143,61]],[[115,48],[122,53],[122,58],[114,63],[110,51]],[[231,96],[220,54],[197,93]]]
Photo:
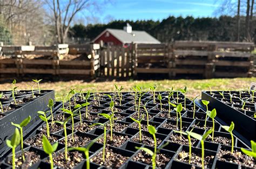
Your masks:
[[[19,143],[21,143],[21,135],[19,134],[19,130],[15,128],[11,140],[6,140],[6,145],[12,148],[12,169],[15,169],[15,148]]]

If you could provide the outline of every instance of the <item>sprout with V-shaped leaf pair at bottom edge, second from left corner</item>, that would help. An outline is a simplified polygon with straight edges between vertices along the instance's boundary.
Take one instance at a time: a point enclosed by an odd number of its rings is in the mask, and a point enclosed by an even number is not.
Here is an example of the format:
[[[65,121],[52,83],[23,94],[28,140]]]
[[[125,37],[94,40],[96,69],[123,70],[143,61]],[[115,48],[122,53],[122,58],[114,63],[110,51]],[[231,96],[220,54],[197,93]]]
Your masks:
[[[50,141],[43,135],[43,149],[46,154],[49,155],[51,169],[53,169],[52,153],[57,150],[58,142],[51,145]]]

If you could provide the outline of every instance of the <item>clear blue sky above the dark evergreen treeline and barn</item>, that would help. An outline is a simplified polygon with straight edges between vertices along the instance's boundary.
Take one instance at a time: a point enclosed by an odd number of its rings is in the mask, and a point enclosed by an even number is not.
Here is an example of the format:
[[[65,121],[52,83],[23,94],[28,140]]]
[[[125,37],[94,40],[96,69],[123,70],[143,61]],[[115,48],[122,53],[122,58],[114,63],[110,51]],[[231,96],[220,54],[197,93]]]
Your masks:
[[[213,17],[213,12],[223,1],[225,0],[112,0],[96,16],[102,22],[106,18],[162,20],[170,15]]]

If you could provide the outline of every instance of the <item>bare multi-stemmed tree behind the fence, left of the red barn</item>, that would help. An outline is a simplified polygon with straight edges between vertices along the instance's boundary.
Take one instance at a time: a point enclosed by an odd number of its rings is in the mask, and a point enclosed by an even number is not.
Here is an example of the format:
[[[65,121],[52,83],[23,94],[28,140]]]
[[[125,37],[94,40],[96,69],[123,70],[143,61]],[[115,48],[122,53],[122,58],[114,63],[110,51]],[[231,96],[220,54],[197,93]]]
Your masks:
[[[45,2],[53,13],[58,43],[65,43],[70,25],[77,13],[89,8],[91,5],[95,5],[95,2],[90,0],[69,0],[68,2],[45,0]]]

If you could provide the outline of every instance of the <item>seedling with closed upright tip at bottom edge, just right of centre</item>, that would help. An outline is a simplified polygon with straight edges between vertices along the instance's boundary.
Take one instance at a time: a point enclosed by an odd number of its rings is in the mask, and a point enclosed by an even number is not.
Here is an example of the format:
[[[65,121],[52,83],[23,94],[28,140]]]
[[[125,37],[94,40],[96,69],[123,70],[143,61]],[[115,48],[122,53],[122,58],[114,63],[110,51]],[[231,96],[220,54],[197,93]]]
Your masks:
[[[157,130],[154,128],[154,126],[149,126],[149,133],[153,136],[154,138],[154,152],[151,151],[149,148],[146,147],[135,147],[138,150],[143,150],[146,153],[150,154],[150,156],[152,157],[152,168],[155,169],[156,168],[156,157],[157,157],[157,153],[161,150],[161,148],[165,147],[166,145],[169,144],[169,142],[167,142],[166,144],[160,146],[157,150],[157,139],[156,139],[156,132]]]

